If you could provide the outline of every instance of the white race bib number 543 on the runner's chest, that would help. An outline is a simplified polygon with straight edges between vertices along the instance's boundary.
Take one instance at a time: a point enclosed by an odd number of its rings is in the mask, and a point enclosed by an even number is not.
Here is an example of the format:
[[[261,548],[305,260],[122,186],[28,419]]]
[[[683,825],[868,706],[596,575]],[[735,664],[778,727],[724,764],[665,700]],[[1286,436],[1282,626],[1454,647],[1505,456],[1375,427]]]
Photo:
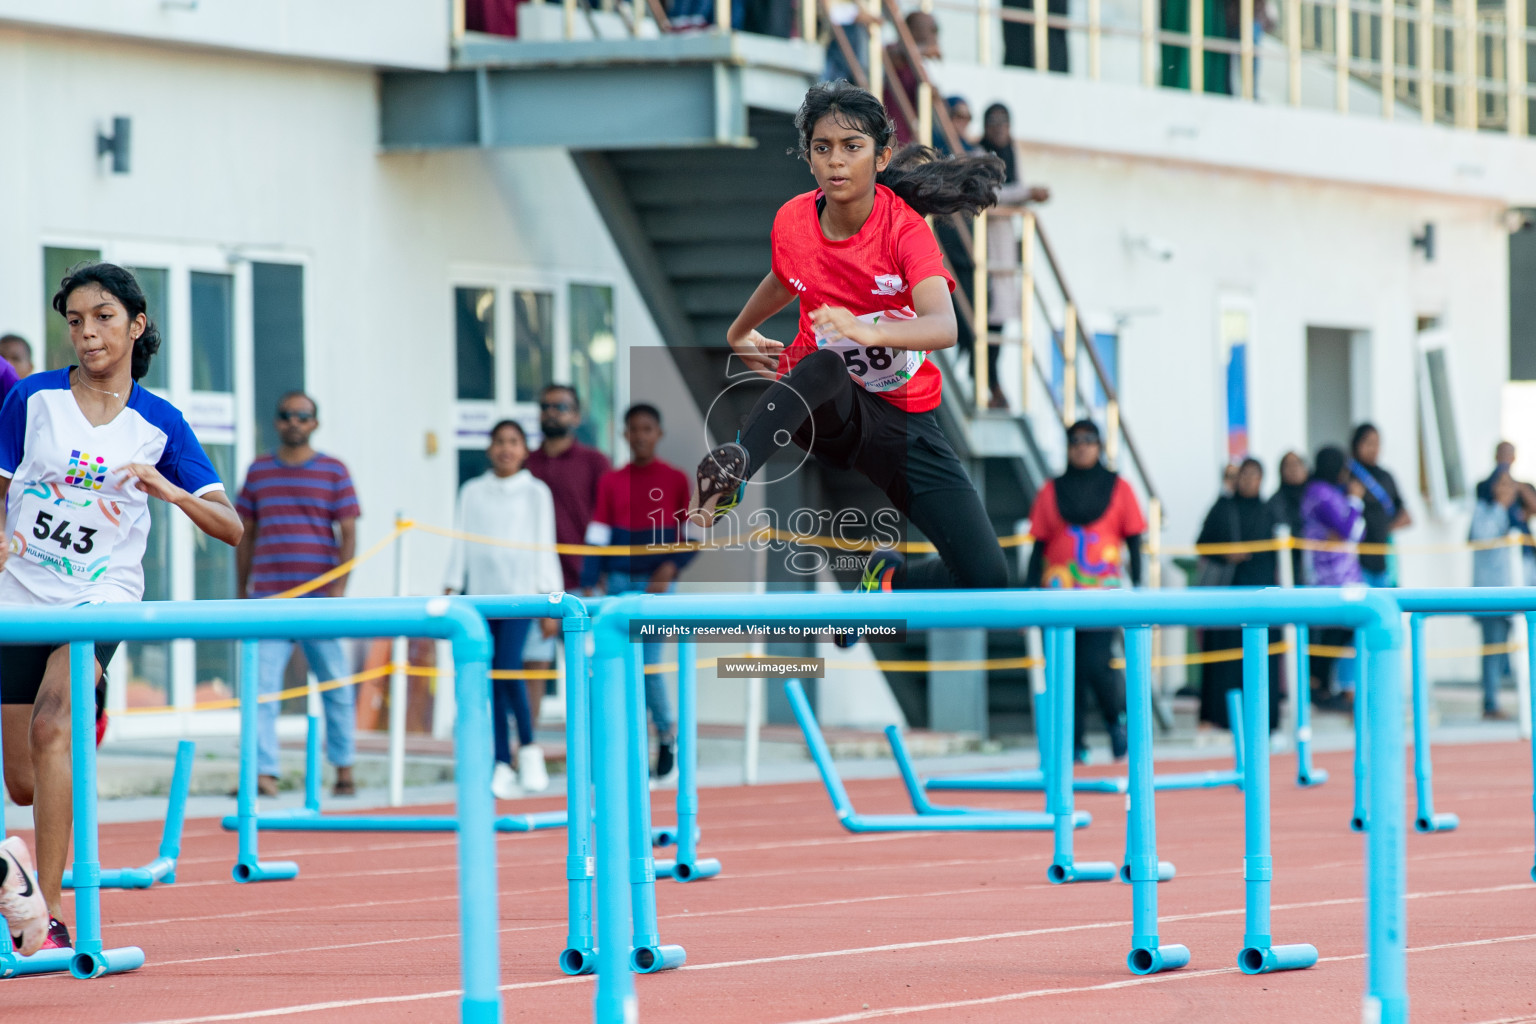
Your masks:
[[[49,484],[28,484],[8,516],[11,551],[60,576],[94,580],[106,571],[121,510],[104,497],[72,497]]]

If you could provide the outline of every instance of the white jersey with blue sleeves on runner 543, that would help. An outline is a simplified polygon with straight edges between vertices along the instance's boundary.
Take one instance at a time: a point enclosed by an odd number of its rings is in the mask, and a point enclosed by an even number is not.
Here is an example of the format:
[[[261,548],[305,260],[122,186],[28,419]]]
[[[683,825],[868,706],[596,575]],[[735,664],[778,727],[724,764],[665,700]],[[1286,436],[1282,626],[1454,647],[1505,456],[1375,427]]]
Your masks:
[[[80,411],[69,370],[11,388],[0,408],[0,476],[11,477],[0,603],[143,599],[149,494],[115,471],[129,462],[192,494],[224,488],[180,410],[137,384],[100,427]]]

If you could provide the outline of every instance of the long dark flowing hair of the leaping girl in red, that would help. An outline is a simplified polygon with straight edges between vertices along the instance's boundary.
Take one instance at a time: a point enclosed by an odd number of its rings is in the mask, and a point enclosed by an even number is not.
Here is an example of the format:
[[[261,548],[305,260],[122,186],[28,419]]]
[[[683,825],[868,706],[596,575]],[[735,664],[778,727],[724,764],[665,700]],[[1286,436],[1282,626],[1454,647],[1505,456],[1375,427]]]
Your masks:
[[[895,126],[877,98],[848,81],[823,81],[805,94],[794,115],[800,137],[796,154],[808,160],[811,134],[828,114],[843,127],[863,132],[874,140],[876,152],[886,149],[895,137]],[[922,215],[980,213],[997,204],[997,189],[1003,184],[1003,161],[992,155],[958,154],[940,157],[928,146],[905,146],[876,178],[877,184],[895,192],[903,203]]]

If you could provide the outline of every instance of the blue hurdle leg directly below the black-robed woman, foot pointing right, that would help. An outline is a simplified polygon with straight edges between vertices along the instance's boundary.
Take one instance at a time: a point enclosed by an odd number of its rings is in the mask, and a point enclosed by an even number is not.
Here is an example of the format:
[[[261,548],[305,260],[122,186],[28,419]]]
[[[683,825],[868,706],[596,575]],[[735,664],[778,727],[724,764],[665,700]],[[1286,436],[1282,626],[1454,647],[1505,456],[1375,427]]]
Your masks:
[[[1275,946],[1270,933],[1270,880],[1275,875],[1275,858],[1270,855],[1269,629],[1266,626],[1243,629],[1243,718],[1253,749],[1243,763],[1246,901],[1238,967],[1246,975],[1312,967],[1318,963],[1315,946],[1307,943]]]

